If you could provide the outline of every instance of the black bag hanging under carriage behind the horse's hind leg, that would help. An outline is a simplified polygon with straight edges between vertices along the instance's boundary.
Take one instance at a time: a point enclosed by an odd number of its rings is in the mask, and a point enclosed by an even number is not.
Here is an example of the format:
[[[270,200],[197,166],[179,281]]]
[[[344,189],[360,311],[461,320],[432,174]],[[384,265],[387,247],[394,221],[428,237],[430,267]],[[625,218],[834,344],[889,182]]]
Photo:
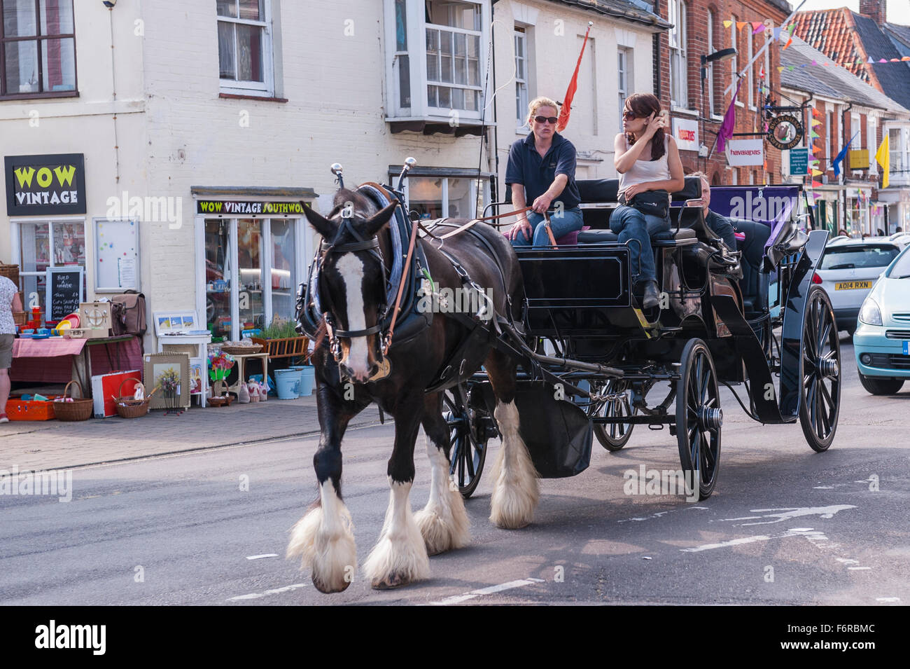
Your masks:
[[[556,400],[549,383],[519,383],[519,433],[542,479],[562,479],[591,463],[591,419],[569,400]]]

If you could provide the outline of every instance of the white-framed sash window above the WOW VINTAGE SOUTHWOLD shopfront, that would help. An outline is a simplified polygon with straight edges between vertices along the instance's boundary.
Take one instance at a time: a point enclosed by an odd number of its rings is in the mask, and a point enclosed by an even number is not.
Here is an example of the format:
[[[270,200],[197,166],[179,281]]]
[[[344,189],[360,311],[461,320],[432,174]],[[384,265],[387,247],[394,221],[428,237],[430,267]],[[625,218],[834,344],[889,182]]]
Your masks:
[[[271,0],[217,0],[217,22],[222,91],[273,96]]]

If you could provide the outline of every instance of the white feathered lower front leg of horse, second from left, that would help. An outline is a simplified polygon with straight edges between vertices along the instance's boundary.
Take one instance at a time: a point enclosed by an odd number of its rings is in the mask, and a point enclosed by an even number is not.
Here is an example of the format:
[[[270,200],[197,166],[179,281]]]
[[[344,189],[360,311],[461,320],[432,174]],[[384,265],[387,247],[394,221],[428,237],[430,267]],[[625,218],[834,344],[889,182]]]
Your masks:
[[[389,509],[379,542],[369,552],[363,573],[374,585],[411,583],[430,577],[430,559],[420,529],[410,512],[410,482],[396,483],[389,477]]]

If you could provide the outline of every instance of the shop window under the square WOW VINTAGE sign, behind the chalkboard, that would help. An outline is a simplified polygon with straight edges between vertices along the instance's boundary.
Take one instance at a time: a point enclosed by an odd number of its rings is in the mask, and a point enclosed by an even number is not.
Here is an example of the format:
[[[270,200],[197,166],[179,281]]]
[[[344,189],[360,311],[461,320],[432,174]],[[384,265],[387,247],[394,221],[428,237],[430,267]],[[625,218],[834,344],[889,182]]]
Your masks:
[[[16,223],[19,235],[19,277],[25,307],[35,303],[45,312],[45,270],[49,267],[86,267],[86,225],[83,221],[26,221]],[[83,272],[83,294],[87,277]]]

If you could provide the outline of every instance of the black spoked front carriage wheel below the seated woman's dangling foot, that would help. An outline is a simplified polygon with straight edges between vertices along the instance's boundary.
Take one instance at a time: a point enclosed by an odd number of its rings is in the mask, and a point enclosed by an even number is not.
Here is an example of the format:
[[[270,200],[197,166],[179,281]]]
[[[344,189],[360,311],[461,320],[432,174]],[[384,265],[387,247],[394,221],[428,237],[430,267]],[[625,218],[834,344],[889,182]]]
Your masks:
[[[721,459],[723,411],[711,351],[703,340],[689,340],[682,350],[676,382],[676,441],[686,492],[698,481],[698,499],[711,496]]]

